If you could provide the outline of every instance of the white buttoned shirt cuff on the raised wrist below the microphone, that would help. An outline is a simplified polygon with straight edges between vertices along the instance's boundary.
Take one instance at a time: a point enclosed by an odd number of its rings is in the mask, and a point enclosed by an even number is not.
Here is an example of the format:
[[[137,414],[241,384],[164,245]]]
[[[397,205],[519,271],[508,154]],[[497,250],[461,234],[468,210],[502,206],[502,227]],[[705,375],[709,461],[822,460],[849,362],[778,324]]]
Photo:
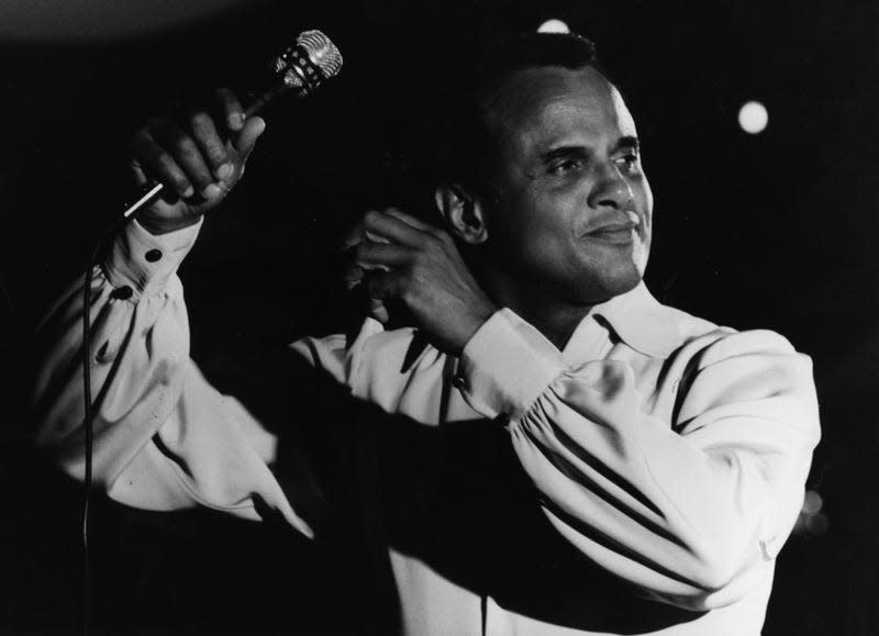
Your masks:
[[[154,235],[137,220],[116,234],[103,270],[116,289],[129,288],[132,300],[158,293],[177,271],[201,231],[204,217],[189,227]]]

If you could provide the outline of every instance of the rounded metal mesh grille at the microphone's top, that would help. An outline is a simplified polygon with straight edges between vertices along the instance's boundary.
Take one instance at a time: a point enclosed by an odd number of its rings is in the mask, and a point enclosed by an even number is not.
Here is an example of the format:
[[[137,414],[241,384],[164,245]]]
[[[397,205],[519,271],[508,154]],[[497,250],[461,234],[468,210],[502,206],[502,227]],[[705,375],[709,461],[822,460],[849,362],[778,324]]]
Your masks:
[[[320,83],[336,75],[342,68],[338,47],[321,31],[303,31],[296,45],[285,51],[275,60],[275,71],[283,83],[305,96]]]

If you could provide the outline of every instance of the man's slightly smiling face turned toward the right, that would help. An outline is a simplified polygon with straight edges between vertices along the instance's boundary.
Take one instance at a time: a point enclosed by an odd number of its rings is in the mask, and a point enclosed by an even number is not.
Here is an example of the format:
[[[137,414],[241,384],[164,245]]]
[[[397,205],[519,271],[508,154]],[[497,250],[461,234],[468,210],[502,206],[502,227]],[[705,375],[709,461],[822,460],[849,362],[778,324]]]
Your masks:
[[[486,247],[508,288],[525,282],[578,305],[634,288],[653,194],[616,89],[590,67],[530,68],[485,105],[498,145]]]

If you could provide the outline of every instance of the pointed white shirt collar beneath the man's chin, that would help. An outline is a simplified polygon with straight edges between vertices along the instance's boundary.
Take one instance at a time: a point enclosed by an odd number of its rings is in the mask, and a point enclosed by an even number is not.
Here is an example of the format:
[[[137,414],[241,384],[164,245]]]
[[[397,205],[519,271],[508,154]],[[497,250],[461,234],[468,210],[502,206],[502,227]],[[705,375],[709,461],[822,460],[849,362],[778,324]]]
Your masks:
[[[675,312],[657,301],[644,281],[635,289],[596,305],[587,320],[601,316],[633,349],[650,357],[667,357],[681,342]]]

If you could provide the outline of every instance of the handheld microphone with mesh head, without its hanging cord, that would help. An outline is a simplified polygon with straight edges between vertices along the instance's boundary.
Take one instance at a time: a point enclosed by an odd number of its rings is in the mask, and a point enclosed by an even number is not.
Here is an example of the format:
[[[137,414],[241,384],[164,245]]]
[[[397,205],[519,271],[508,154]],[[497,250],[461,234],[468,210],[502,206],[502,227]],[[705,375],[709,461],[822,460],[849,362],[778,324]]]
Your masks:
[[[342,54],[338,47],[321,31],[303,31],[272,63],[275,83],[244,110],[249,118],[262,110],[276,97],[292,91],[304,98],[314,92],[325,79],[338,74],[342,68]],[[147,183],[137,199],[129,204],[122,214],[130,219],[137,210],[155,199],[165,189],[164,183]]]

